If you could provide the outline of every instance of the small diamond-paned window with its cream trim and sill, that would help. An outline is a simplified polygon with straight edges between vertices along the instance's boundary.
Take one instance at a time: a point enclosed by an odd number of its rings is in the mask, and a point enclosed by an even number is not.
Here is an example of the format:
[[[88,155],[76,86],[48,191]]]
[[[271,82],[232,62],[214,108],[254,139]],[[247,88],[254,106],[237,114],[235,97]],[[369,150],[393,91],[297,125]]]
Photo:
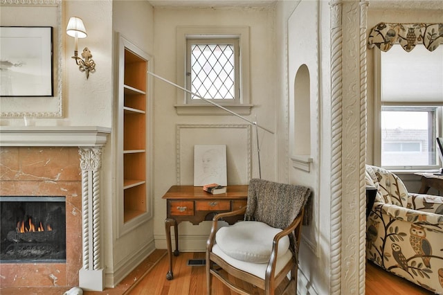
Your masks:
[[[177,28],[177,114],[251,114],[248,26]]]

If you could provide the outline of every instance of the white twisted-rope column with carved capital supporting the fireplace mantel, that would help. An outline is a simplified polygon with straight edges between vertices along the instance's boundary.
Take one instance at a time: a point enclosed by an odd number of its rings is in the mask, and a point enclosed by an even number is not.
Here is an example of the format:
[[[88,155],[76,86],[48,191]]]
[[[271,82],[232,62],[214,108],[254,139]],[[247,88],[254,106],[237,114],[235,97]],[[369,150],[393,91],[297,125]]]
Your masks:
[[[100,168],[101,147],[80,147],[82,169],[82,254],[83,267],[79,271],[82,289],[102,291],[105,271],[101,261],[100,242]]]

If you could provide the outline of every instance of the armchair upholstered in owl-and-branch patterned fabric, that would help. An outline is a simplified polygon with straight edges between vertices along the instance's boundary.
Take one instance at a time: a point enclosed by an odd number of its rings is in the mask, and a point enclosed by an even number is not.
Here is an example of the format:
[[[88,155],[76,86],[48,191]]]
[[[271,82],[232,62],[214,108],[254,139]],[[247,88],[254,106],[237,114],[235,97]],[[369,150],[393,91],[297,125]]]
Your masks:
[[[367,222],[368,260],[443,294],[443,197],[408,193],[386,169],[365,170],[366,185],[377,188]]]

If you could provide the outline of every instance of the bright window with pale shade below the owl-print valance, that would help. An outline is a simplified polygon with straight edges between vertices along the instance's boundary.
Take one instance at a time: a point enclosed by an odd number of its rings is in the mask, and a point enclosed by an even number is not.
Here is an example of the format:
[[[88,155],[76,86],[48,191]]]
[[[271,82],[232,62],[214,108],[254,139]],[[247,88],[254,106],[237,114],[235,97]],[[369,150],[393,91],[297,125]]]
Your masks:
[[[443,129],[443,46],[431,52],[418,44],[406,52],[395,44],[376,53],[377,61],[376,159],[378,153],[380,165],[395,170],[440,168],[435,138]]]

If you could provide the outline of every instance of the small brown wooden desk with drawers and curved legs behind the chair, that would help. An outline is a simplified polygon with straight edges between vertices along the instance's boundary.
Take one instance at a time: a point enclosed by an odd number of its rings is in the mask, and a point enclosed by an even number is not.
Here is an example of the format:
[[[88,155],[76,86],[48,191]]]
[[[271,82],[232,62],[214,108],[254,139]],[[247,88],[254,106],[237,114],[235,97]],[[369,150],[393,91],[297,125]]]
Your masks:
[[[179,231],[180,222],[191,222],[194,225],[205,220],[213,220],[217,213],[235,211],[246,206],[248,186],[228,186],[226,193],[211,195],[206,193],[201,186],[171,186],[163,195],[166,199],[166,244],[168,246],[169,271],[168,280],[174,278],[172,273],[172,245],[171,226],[174,226],[175,250],[174,256],[179,256]],[[243,220],[244,215],[237,215],[225,219],[228,224]],[[209,233],[208,233],[209,234]]]

